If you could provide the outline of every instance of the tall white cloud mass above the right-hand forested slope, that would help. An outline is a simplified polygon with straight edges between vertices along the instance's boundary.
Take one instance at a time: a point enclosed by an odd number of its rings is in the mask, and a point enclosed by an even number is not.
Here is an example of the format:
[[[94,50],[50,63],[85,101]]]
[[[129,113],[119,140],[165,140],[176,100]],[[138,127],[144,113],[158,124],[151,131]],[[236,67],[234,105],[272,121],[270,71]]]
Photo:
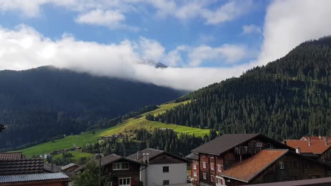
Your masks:
[[[267,8],[259,62],[285,56],[303,41],[331,34],[331,1],[272,1]]]

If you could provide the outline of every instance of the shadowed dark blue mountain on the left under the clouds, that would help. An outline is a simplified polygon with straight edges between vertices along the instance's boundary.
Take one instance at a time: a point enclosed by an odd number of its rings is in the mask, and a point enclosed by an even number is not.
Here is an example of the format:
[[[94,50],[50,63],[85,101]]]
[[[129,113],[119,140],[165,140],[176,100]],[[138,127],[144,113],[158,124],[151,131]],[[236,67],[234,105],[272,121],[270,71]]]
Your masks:
[[[0,71],[0,149],[78,134],[110,118],[177,99],[184,92],[51,66]]]

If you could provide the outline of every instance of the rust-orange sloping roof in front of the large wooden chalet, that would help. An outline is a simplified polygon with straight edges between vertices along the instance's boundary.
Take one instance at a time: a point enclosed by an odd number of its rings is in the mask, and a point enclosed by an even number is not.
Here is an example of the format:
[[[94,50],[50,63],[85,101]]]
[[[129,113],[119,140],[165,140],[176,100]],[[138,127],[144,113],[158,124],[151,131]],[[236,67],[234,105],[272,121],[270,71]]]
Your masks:
[[[248,183],[287,152],[288,149],[263,149],[252,158],[248,158],[242,163],[225,170],[222,176]]]

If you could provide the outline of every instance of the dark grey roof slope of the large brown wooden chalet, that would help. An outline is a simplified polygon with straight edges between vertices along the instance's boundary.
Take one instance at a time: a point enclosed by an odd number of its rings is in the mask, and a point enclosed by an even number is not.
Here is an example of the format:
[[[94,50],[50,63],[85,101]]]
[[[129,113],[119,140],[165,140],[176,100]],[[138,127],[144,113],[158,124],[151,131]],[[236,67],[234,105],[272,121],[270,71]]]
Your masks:
[[[246,141],[250,140],[259,136],[259,134],[223,134],[214,140],[201,145],[195,149],[192,149],[191,152],[202,152],[208,154],[223,154],[227,152],[229,149],[240,145],[241,143],[245,143]]]

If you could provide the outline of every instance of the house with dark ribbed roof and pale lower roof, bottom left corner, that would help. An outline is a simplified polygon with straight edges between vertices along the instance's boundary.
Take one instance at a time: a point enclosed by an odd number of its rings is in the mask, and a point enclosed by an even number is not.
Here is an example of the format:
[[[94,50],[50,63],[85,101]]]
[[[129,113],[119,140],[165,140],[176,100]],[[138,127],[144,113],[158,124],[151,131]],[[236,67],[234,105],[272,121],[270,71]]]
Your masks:
[[[0,186],[65,186],[68,181],[66,174],[46,172],[43,159],[0,160]]]

